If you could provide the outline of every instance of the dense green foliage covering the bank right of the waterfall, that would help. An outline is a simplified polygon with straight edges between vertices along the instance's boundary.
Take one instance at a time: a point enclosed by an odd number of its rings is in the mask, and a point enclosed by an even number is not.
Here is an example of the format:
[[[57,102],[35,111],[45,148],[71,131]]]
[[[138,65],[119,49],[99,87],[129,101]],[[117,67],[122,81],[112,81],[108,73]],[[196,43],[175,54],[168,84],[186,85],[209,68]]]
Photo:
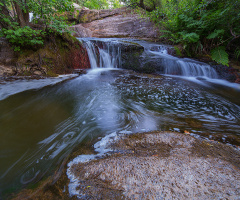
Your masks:
[[[240,36],[239,0],[159,1],[160,6],[147,15],[160,27],[161,38],[182,44],[190,56],[211,54],[216,60],[223,55],[218,62],[227,64],[226,53],[234,53],[234,41],[239,42],[236,40]],[[222,46],[228,47],[227,51]],[[216,56],[216,52],[221,54]]]

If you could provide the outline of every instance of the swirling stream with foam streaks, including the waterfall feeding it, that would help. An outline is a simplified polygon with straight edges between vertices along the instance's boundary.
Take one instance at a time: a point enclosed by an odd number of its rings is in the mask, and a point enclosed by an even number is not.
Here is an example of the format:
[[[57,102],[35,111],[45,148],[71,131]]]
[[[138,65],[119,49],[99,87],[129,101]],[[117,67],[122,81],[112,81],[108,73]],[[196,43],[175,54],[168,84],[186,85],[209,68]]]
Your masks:
[[[80,40],[92,67],[87,74],[18,93],[13,87],[7,96],[12,83],[0,85],[0,198],[51,175],[81,142],[113,132],[187,131],[240,145],[239,84],[169,55],[164,45],[128,40],[161,58],[166,67],[153,76],[121,69],[121,39]]]

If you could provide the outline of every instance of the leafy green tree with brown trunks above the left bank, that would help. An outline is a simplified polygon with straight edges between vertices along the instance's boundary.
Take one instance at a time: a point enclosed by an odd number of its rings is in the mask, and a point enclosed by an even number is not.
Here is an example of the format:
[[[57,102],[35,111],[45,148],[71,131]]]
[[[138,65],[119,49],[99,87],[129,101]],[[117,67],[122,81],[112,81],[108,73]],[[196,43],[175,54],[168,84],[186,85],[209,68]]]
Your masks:
[[[48,33],[67,31],[63,13],[71,10],[71,0],[0,0],[0,36],[15,50],[42,45]],[[32,22],[29,12],[34,16]]]

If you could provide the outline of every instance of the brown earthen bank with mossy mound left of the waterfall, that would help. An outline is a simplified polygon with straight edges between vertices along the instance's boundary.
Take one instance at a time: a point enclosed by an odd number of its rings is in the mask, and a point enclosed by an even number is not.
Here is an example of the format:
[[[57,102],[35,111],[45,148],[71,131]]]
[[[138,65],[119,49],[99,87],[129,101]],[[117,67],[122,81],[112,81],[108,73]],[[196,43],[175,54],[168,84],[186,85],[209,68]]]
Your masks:
[[[1,48],[0,53],[11,49],[6,41],[4,45],[5,48]],[[45,39],[43,47],[22,49],[21,52],[7,56],[8,62],[5,57],[0,57],[0,77],[52,77],[72,73],[74,69],[90,68],[86,49],[76,38],[68,34],[53,34]]]

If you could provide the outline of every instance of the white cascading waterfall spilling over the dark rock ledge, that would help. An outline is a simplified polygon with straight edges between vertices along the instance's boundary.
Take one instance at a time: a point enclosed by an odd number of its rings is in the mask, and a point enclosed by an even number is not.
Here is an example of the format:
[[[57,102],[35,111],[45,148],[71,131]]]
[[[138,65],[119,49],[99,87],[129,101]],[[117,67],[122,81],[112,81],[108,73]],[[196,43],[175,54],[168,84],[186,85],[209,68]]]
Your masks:
[[[144,53],[138,58],[141,68],[144,63],[155,62],[156,72],[159,74],[187,76],[187,77],[208,77],[218,78],[218,74],[210,65],[192,59],[177,58],[172,56],[174,49],[171,46],[149,43],[140,40],[117,39],[117,38],[79,38],[86,47],[91,68],[126,68],[122,60],[131,60],[132,52],[123,49],[126,44],[137,43],[144,47]],[[123,51],[123,52],[121,52]],[[123,58],[123,54],[125,55]],[[126,58],[127,57],[127,58]]]

